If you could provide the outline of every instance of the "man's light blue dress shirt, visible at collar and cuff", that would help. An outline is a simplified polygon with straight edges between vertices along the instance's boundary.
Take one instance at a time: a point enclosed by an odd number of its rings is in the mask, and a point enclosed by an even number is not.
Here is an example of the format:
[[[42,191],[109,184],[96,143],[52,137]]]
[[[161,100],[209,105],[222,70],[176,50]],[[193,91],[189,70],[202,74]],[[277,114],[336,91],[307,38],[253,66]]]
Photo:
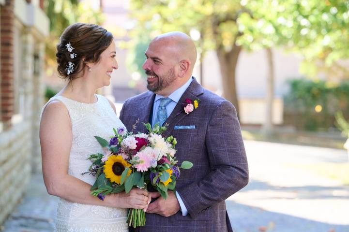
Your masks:
[[[170,114],[172,113],[173,109],[176,107],[177,103],[180,101],[183,93],[185,92],[185,90],[189,87],[190,83],[192,83],[193,81],[193,77],[189,78],[189,80],[182,85],[182,87],[178,88],[177,90],[175,90],[173,93],[171,93],[168,98],[172,100],[172,102],[170,102],[167,106],[166,106],[166,111],[167,111],[167,117],[170,116]],[[155,95],[155,99],[154,99],[154,105],[153,105],[153,110],[152,110],[152,125],[154,125],[155,122],[155,117],[156,117],[156,112],[159,108],[160,105],[160,99],[164,98],[161,95],[156,94]],[[177,196],[177,200],[180,203],[181,206],[181,211],[182,211],[182,216],[186,216],[188,214],[188,210],[185,207],[181,196],[179,195],[179,193],[176,191],[176,196]]]

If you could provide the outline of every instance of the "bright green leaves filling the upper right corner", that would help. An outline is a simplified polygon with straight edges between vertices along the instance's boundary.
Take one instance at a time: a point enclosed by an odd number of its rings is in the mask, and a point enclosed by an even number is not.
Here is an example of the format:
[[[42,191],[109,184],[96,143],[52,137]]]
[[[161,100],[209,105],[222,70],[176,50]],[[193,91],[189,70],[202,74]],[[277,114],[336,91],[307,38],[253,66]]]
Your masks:
[[[238,19],[243,33],[237,43],[250,50],[284,45],[304,60],[301,72],[347,78],[349,58],[349,1],[246,0],[250,14]]]

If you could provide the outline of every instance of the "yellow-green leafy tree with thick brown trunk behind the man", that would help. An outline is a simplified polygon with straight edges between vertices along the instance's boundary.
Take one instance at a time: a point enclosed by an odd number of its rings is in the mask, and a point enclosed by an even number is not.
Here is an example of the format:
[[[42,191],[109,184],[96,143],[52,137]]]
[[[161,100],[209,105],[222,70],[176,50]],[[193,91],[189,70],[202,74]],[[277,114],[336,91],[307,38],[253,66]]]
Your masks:
[[[149,37],[171,30],[190,34],[200,31],[198,41],[202,54],[214,49],[223,79],[224,97],[237,111],[235,69],[242,47],[236,43],[241,33],[237,20],[245,12],[237,0],[131,0],[132,16],[137,20],[133,35],[150,31]]]

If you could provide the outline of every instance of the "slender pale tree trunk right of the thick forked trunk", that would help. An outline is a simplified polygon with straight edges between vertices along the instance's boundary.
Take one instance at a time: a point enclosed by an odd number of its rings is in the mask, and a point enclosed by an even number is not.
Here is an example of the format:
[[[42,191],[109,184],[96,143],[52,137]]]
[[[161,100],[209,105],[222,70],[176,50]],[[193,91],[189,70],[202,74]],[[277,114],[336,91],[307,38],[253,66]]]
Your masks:
[[[274,66],[273,51],[270,47],[266,48],[266,55],[268,62],[267,89],[265,96],[266,112],[262,131],[266,136],[271,136],[273,134]]]

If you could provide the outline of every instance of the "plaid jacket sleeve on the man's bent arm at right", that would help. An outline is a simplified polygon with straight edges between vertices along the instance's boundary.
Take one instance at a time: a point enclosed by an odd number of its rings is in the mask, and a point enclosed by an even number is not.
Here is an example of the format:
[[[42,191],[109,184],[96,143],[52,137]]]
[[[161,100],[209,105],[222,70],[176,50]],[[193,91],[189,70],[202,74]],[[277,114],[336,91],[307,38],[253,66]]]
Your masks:
[[[192,218],[226,200],[248,183],[240,124],[230,102],[220,103],[213,111],[205,143],[212,171],[201,181],[176,189]]]

